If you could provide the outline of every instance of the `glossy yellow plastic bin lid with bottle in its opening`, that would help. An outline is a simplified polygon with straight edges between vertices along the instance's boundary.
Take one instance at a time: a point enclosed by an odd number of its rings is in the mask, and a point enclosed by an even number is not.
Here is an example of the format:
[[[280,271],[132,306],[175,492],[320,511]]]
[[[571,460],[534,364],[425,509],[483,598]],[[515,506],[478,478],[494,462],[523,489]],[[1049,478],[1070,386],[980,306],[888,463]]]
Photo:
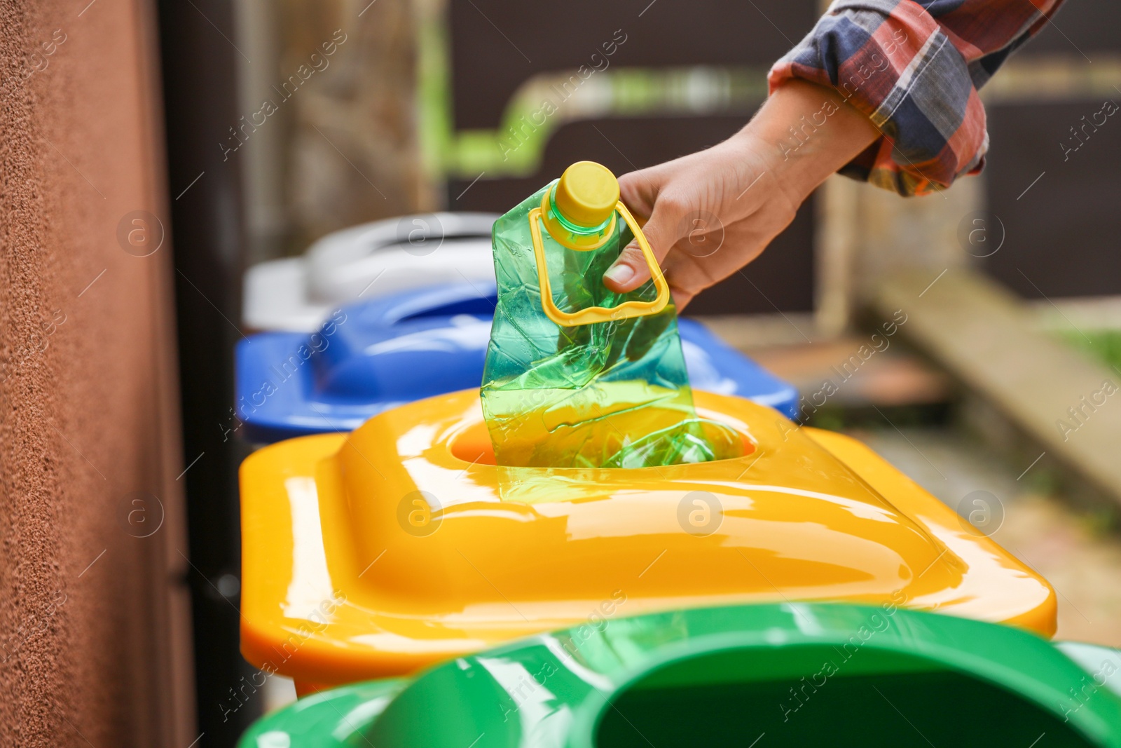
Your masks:
[[[748,601],[891,599],[1054,632],[1044,579],[868,447],[695,397],[740,432],[743,456],[495,467],[475,390],[260,450],[241,468],[242,653],[307,690],[604,617]],[[713,516],[715,532],[686,532]]]

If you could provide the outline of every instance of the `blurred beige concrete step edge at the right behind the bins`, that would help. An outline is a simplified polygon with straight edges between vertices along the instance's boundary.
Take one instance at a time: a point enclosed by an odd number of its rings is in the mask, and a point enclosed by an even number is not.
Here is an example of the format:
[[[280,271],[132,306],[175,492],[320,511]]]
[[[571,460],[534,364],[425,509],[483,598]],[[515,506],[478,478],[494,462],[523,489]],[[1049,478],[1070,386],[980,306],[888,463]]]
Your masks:
[[[970,269],[887,276],[869,299],[995,413],[1121,505],[1121,371],[1040,330],[1011,293]],[[932,284],[932,281],[934,281]]]

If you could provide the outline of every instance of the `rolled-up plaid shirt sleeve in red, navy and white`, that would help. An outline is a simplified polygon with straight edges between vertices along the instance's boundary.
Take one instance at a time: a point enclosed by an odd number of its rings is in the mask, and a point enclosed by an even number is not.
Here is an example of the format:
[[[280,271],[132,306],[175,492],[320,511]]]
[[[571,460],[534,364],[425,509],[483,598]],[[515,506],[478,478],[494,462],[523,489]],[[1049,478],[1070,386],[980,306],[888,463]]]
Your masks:
[[[978,90],[1063,0],[834,0],[775,63],[769,86],[834,86],[882,137],[841,174],[901,195],[948,187],[984,166]]]

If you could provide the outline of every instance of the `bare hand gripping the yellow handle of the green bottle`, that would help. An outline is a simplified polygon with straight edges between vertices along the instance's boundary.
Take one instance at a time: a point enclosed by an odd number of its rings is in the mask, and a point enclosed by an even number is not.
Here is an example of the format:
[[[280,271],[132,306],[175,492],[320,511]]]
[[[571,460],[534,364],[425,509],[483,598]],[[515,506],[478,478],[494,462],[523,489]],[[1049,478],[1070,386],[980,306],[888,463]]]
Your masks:
[[[791,132],[791,128],[797,132]],[[619,178],[677,308],[756,259],[828,175],[879,132],[833,89],[788,81],[738,133],[707,150]],[[626,293],[649,280],[632,241],[603,276]]]

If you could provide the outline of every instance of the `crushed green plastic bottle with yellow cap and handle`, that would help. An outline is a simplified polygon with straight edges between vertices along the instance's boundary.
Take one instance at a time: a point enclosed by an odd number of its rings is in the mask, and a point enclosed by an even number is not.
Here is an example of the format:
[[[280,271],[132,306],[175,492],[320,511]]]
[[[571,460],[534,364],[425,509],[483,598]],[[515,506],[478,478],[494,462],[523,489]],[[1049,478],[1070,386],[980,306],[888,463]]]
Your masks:
[[[603,273],[636,234],[654,277],[617,294]],[[498,464],[642,468],[736,450],[696,416],[669,288],[610,170],[573,164],[495,221],[493,246],[482,405]]]

